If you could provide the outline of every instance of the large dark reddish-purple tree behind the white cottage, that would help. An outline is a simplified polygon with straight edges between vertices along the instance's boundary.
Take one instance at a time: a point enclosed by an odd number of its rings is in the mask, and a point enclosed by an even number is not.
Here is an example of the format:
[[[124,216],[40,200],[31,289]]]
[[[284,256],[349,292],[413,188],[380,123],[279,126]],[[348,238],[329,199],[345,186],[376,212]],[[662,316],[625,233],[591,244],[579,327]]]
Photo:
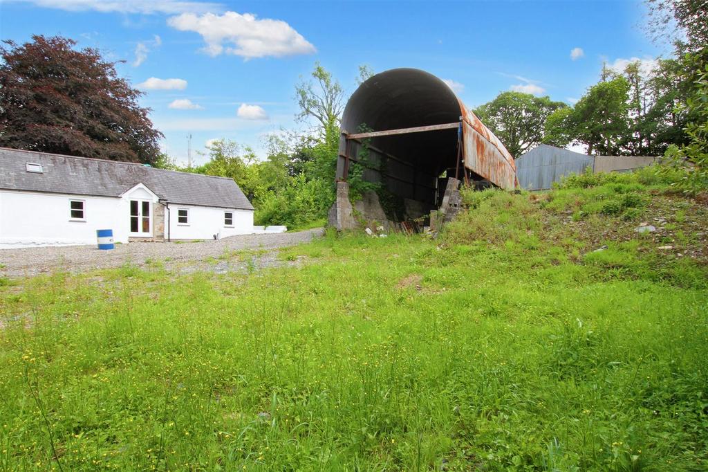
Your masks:
[[[0,146],[152,164],[162,133],[115,62],[34,35],[0,46]]]

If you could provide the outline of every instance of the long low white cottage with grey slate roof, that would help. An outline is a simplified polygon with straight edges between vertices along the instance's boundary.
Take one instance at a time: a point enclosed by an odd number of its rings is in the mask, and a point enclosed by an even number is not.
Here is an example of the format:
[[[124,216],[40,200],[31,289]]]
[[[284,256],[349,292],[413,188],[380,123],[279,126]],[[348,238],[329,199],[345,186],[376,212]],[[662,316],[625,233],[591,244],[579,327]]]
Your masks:
[[[0,249],[203,240],[253,232],[233,179],[0,148]]]

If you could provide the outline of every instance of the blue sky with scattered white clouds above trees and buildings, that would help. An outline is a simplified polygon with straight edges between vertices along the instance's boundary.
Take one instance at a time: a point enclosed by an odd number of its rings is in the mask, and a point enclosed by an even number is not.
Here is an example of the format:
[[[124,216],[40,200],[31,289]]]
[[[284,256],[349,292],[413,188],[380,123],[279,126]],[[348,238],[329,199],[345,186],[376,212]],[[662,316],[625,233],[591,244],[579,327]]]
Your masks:
[[[164,150],[185,162],[190,133],[193,150],[226,137],[262,155],[264,135],[302,128],[295,84],[316,61],[347,96],[369,64],[425,69],[471,108],[510,89],[572,103],[603,61],[666,55],[644,15],[629,0],[4,0],[0,38],[64,35],[125,60],[118,72],[145,91]]]

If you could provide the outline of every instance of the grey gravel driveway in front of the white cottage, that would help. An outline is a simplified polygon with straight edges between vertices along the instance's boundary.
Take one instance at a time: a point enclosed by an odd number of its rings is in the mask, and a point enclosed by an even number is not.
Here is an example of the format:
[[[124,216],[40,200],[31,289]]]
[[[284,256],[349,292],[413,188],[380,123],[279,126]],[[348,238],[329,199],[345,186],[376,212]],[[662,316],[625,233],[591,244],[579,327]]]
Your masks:
[[[0,249],[0,274],[4,276],[33,276],[57,269],[71,272],[120,267],[130,262],[142,266],[149,261],[168,259],[173,262],[199,262],[206,257],[219,257],[227,251],[239,249],[274,249],[309,242],[321,236],[321,228],[272,235],[241,235],[223,240],[203,242],[130,242],[116,245],[110,251],[96,246],[30,247]]]

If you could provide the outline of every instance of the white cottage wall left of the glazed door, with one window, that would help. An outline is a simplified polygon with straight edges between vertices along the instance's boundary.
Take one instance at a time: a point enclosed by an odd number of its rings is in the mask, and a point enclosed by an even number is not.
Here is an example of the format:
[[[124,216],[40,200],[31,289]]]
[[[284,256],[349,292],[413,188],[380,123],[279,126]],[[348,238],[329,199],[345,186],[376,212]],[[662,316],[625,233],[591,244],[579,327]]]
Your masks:
[[[84,218],[72,218],[71,201],[83,202]],[[108,229],[116,242],[127,242],[127,204],[121,198],[0,191],[0,249],[95,245],[96,230]]]

